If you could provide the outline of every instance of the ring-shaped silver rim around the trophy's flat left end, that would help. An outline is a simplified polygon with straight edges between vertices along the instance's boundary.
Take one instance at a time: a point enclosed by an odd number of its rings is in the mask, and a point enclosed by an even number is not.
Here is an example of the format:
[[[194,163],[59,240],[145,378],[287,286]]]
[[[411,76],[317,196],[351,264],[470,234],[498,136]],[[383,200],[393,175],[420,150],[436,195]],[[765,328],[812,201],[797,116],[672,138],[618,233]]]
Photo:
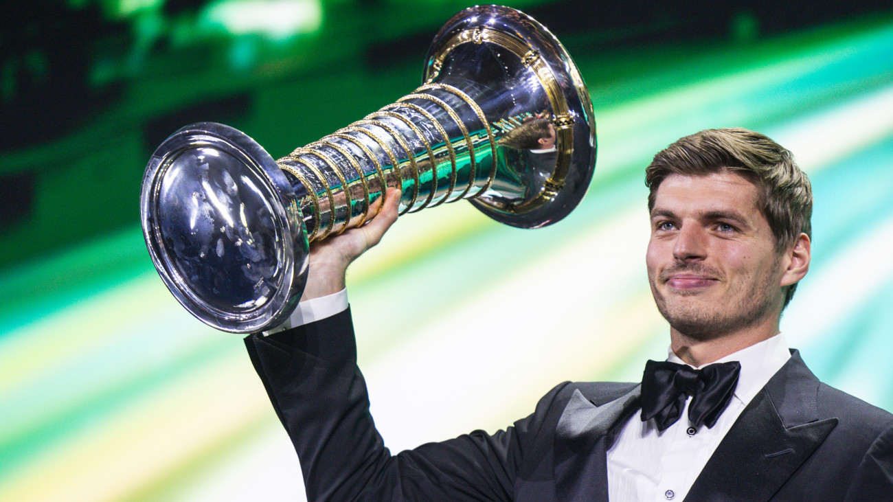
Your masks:
[[[280,236],[274,250],[279,264],[272,281],[276,288],[263,305],[247,311],[238,312],[237,305],[224,310],[196,293],[172,264],[171,253],[163,244],[162,231],[157,224],[161,204],[158,196],[165,173],[179,155],[198,147],[213,148],[236,158],[239,167],[253,173],[273,196],[266,200],[271,208],[274,231]],[[303,293],[309,244],[294,191],[271,155],[239,130],[216,122],[197,122],[165,139],[146,166],[140,194],[140,219],[146,248],[165,286],[190,314],[217,330],[250,333],[275,327],[288,319]]]

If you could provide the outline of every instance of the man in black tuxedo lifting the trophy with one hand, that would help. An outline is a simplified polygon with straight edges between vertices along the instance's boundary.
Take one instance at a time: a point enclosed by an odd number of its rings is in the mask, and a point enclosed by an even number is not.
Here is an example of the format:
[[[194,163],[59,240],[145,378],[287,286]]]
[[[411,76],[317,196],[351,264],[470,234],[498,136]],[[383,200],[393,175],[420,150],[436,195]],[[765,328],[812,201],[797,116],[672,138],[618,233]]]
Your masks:
[[[311,500],[893,500],[893,415],[818,381],[779,335],[810,261],[812,193],[761,134],[705,130],[647,168],[648,279],[668,362],[565,382],[505,431],[391,456],[375,431],[344,272],[396,219],[313,250],[295,329],[246,339]],[[334,294],[334,296],[331,296]]]

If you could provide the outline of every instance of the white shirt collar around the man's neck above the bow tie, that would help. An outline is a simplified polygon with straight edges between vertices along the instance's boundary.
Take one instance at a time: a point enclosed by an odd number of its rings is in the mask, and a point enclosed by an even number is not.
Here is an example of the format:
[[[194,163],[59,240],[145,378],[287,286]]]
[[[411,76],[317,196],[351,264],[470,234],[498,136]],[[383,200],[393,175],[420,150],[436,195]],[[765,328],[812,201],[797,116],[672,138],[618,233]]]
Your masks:
[[[676,356],[672,351],[672,348],[667,349],[667,351],[669,353],[667,361],[677,364],[687,364],[682,361],[679,356]],[[778,372],[781,369],[781,366],[788,362],[788,359],[790,359],[788,342],[784,339],[781,333],[779,333],[771,339],[764,339],[750,347],[742,348],[738,352],[734,352],[729,356],[721,357],[714,361],[714,363],[738,361],[741,364],[738,385],[735,387],[735,397],[738,397],[742,403],[747,404],[756,396],[756,393],[759,392],[760,389],[765,387],[766,383],[772,378],[772,375]],[[688,365],[691,366],[691,364]],[[701,366],[701,368],[704,366],[706,366],[706,364]]]

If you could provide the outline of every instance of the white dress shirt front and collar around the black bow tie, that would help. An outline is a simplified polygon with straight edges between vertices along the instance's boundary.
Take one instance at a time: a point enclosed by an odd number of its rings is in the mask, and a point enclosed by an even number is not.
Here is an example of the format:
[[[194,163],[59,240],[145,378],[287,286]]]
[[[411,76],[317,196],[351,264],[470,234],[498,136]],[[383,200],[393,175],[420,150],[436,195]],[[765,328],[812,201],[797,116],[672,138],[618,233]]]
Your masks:
[[[685,498],[747,403],[789,358],[788,344],[779,334],[717,360],[739,361],[741,372],[729,406],[711,428],[704,425],[696,430],[689,423],[690,397],[680,419],[663,432],[657,431],[655,419],[643,423],[640,413],[633,414],[608,450],[608,499],[647,502]],[[667,360],[685,364],[672,350]]]

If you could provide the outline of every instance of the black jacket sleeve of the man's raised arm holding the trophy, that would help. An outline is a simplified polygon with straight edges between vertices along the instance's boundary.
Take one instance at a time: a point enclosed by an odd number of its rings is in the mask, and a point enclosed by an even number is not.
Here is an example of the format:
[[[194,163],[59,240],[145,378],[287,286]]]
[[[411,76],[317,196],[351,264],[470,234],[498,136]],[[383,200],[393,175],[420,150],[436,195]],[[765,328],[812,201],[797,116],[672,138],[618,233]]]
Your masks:
[[[251,335],[246,347],[295,445],[310,501],[511,500],[522,456],[534,449],[547,414],[541,402],[505,431],[474,431],[391,456],[369,412],[349,310]]]

